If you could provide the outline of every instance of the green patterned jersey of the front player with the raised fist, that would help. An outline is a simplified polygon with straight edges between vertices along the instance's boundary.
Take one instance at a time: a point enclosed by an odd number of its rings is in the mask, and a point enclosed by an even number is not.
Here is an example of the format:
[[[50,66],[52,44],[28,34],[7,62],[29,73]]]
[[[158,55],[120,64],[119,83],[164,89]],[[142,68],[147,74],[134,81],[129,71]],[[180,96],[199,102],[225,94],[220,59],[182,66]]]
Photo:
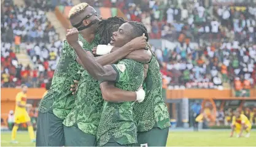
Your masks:
[[[122,59],[112,65],[117,72],[115,86],[126,91],[138,91],[144,81],[144,65],[131,59]],[[137,129],[133,120],[134,102],[106,102],[97,132],[98,146],[111,138],[121,145],[137,143]]]

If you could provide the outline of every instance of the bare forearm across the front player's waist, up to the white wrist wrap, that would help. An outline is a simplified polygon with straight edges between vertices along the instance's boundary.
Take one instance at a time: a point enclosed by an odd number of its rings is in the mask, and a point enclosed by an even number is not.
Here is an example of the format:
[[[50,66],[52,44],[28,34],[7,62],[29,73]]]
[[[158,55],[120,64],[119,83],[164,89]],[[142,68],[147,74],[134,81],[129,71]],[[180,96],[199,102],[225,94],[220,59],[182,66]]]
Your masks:
[[[116,88],[114,83],[104,81],[100,85],[103,99],[109,102],[131,102],[136,100],[136,92],[125,91],[123,89]]]

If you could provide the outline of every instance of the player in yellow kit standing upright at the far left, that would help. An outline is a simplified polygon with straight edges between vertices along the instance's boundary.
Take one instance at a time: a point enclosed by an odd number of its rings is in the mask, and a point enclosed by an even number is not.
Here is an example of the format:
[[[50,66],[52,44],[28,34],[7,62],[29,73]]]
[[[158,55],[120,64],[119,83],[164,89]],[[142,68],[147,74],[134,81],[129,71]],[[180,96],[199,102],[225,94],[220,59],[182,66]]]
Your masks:
[[[18,92],[16,96],[16,107],[14,112],[14,127],[12,128],[12,141],[11,143],[18,143],[15,141],[18,126],[21,123],[26,123],[28,125],[28,133],[32,142],[35,142],[34,130],[33,126],[30,122],[30,117],[28,112],[26,111],[26,92],[28,91],[28,87],[26,85],[21,85],[22,91]]]

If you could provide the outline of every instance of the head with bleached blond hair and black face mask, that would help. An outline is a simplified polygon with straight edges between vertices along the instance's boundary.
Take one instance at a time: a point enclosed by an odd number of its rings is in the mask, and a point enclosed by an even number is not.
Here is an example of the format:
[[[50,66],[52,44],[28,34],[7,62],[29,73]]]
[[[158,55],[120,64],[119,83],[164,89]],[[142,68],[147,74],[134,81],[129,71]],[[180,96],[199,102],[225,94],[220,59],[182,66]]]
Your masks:
[[[89,6],[86,2],[82,2],[72,7],[69,11],[69,20],[75,28],[80,28],[80,26],[87,26],[92,21],[98,21],[98,15],[96,15],[96,10]]]

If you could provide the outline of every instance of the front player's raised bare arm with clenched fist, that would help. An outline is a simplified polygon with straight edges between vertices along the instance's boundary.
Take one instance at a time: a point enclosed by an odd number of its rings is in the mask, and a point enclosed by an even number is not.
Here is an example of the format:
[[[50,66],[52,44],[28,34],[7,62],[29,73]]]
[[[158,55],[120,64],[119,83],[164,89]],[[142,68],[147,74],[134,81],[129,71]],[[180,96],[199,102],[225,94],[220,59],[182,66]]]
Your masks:
[[[66,39],[69,45],[76,51],[87,72],[98,81],[115,81],[117,72],[114,68],[111,65],[101,66],[93,57],[85,53],[79,45],[78,34],[79,32],[76,28],[69,29]]]

